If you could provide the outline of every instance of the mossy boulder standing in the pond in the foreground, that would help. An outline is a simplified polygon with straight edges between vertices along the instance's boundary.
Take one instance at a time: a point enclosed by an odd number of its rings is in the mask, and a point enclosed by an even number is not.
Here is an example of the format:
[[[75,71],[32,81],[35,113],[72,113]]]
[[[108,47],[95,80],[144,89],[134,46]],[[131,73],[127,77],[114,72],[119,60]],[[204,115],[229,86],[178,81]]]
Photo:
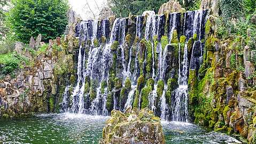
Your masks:
[[[112,110],[102,132],[103,143],[165,143],[162,126],[152,110],[134,108],[130,113],[123,114],[119,110]]]

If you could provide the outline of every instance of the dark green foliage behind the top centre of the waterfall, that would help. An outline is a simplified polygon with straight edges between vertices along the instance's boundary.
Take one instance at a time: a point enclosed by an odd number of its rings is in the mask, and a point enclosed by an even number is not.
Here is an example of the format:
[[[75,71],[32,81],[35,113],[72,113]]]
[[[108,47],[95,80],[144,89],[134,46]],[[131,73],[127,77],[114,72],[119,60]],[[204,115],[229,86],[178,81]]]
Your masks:
[[[158,13],[160,6],[169,0],[110,0],[110,7],[116,17],[128,17],[131,12],[134,15],[141,15],[144,11]]]

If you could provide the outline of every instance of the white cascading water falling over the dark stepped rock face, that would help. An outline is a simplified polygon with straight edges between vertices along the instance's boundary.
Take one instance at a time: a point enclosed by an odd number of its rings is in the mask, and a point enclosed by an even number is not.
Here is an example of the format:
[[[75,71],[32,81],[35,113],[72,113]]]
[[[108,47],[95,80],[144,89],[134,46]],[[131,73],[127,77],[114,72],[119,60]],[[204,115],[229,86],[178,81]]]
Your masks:
[[[72,87],[66,87],[65,93],[63,94],[63,102],[61,103],[63,111],[92,115],[109,114],[110,110],[107,109],[107,101],[111,99],[111,97],[108,98],[108,94],[111,90],[106,84],[110,84],[109,79],[112,78],[110,77],[110,68],[112,63],[116,62],[115,70],[117,70],[117,74],[115,77],[122,78],[122,85],[125,84],[125,79],[129,78],[131,81],[131,89],[126,94],[126,99],[122,101],[122,104],[121,98],[117,95],[117,93],[120,93],[121,89],[113,89],[112,92],[115,94],[112,95],[112,109],[124,111],[129,106],[133,106],[137,90],[137,79],[141,75],[141,70],[143,70],[145,78],[153,78],[155,82],[154,89],[148,96],[148,107],[156,112],[162,119],[188,122],[188,71],[190,68],[198,67],[198,63],[201,63],[197,60],[199,56],[195,56],[194,52],[197,51],[196,48],[200,46],[200,48],[197,49],[200,49],[201,54],[199,55],[201,58],[204,46],[201,42],[195,42],[191,54],[191,52],[189,53],[188,51],[187,42],[189,38],[193,37],[193,34],[197,34],[198,41],[204,38],[205,17],[205,11],[199,10],[185,12],[183,13],[183,17],[181,17],[181,13],[170,13],[168,22],[166,21],[166,15],[147,15],[145,26],[143,24],[144,16],[136,17],[136,25],[126,23],[127,18],[115,19],[113,25],[111,25],[108,20],[101,20],[100,22],[97,20],[81,21],[81,23],[76,26],[75,35],[80,37],[80,49],[76,52],[79,53],[77,55],[77,83],[75,87],[73,87],[71,100],[69,100],[68,91]],[[183,18],[183,20],[181,20],[181,18]],[[183,28],[181,28],[182,24],[179,21],[183,21]],[[168,25],[166,25],[166,23],[168,23]],[[110,25],[112,28],[110,28]],[[169,27],[166,28],[165,25]],[[175,58],[177,64],[173,64],[174,62],[170,63],[169,61],[173,44],[169,43],[165,47],[162,47],[160,43],[162,36],[165,34],[168,35],[170,42],[174,30],[177,30],[178,38],[180,35],[187,37],[185,45],[179,44],[179,54],[177,54],[179,57]],[[148,59],[147,54],[149,54],[146,53],[148,47],[146,46],[145,50],[143,50],[145,59],[143,66],[141,66],[142,61],[138,59],[138,57],[141,56],[141,53],[139,53],[139,45],[128,47],[128,49],[127,43],[125,43],[126,33],[130,35],[133,34],[134,38],[138,36],[139,40],[145,38],[147,42],[151,41],[151,74],[145,75],[145,69],[148,65],[146,63]],[[153,44],[153,36],[155,35],[158,36],[159,41],[157,46]],[[88,40],[94,41],[94,39],[99,39],[102,36],[106,37],[107,44],[104,46],[87,45],[90,44],[87,43]],[[115,41],[118,41],[120,45],[117,47],[117,50],[112,50],[111,45]],[[85,46],[83,46],[84,43],[86,44]],[[99,43],[101,44],[101,39]],[[118,57],[116,61],[114,61],[113,51],[116,53],[115,57]],[[191,67],[192,62],[193,67]],[[172,72],[170,71],[170,67],[174,69]],[[174,75],[177,77],[174,77]],[[179,87],[170,92],[171,100],[166,99],[166,92],[168,91],[166,83],[169,78],[174,78],[179,83]],[[165,86],[162,95],[157,95],[157,83],[160,80],[164,80]],[[88,85],[89,88],[86,87]],[[142,91],[139,91],[139,93],[138,105],[141,107]],[[69,105],[69,101],[72,101],[71,105]],[[69,106],[72,107],[69,108]]]

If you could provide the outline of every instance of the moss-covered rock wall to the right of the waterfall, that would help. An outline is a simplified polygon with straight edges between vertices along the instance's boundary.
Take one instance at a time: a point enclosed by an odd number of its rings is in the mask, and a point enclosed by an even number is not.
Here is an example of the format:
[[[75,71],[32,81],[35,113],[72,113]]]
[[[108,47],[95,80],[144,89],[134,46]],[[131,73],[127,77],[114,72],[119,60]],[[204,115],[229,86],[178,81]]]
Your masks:
[[[215,131],[240,134],[245,142],[255,143],[256,50],[250,47],[250,37],[219,39],[218,20],[214,15],[208,17],[203,65],[198,75],[190,70],[190,118]]]

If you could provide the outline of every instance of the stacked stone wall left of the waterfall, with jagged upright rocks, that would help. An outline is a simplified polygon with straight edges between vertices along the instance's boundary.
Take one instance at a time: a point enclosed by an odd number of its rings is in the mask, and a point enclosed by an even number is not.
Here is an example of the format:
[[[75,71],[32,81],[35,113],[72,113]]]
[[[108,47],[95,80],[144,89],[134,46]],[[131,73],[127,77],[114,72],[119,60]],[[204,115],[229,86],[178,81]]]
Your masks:
[[[79,49],[73,27],[79,18],[72,10],[68,11],[67,18],[66,35],[50,40],[46,50],[34,58],[28,48],[22,52],[24,46],[15,44],[15,52],[30,58],[32,64],[22,62],[20,68],[15,69],[15,78],[6,75],[0,80],[0,116],[61,111],[65,87],[75,82],[77,57],[74,51]],[[41,37],[39,35],[36,41],[31,37],[29,48],[37,51],[40,45],[45,45]]]

